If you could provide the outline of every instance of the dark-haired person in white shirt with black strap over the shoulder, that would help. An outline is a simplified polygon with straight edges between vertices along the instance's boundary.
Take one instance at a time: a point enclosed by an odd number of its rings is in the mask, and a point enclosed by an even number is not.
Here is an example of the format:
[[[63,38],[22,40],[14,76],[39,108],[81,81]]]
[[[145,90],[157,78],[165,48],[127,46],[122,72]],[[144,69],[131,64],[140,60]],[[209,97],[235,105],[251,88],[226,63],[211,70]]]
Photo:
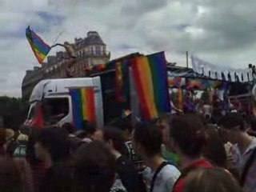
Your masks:
[[[162,158],[162,132],[152,123],[140,123],[133,132],[135,151],[148,166],[144,178],[149,192],[170,192],[180,176],[175,166]]]

